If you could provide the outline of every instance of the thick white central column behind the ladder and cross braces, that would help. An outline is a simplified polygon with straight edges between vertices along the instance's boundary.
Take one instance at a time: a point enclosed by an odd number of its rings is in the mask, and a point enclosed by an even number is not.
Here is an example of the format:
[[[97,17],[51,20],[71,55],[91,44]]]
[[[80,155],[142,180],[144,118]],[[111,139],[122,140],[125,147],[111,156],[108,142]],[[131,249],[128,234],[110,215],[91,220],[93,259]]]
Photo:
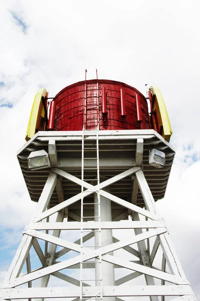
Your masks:
[[[105,189],[107,192],[110,192],[110,188],[107,187]],[[94,196],[94,203],[98,203],[97,194]],[[105,197],[100,197],[101,203],[101,222],[104,221],[112,221],[112,214],[111,214],[111,201]],[[94,205],[94,215],[98,216],[98,204]],[[96,218],[95,221],[98,221]],[[101,246],[104,247],[106,245],[112,244],[112,230],[105,229],[101,230]],[[99,245],[99,233],[95,232],[95,245]],[[111,253],[110,253],[111,254]],[[109,262],[102,261],[102,263],[96,263],[95,266],[95,278],[100,278],[100,264],[102,264],[102,285],[115,285],[115,277],[114,277],[114,265]],[[96,285],[99,285],[99,281],[96,281]],[[115,297],[104,297],[105,301],[115,301]]]

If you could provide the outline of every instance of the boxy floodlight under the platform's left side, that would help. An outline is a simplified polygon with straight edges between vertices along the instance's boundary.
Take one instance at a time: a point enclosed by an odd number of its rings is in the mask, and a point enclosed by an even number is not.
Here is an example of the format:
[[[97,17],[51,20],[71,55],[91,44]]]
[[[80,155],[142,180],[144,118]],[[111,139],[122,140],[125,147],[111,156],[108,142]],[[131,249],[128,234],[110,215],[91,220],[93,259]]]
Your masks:
[[[49,155],[44,149],[31,152],[28,157],[28,169],[38,170],[48,167],[51,167],[51,163],[49,160]]]

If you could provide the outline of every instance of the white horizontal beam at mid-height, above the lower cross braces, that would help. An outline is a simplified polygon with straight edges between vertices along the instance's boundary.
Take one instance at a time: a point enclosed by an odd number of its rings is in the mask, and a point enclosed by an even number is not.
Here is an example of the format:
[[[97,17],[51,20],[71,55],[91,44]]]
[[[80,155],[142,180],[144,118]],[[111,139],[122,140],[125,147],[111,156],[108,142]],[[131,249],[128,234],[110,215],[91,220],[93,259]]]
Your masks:
[[[119,222],[68,222],[68,223],[29,223],[29,229],[35,230],[92,230],[92,229],[141,229],[163,228],[162,220],[157,221],[119,221]]]

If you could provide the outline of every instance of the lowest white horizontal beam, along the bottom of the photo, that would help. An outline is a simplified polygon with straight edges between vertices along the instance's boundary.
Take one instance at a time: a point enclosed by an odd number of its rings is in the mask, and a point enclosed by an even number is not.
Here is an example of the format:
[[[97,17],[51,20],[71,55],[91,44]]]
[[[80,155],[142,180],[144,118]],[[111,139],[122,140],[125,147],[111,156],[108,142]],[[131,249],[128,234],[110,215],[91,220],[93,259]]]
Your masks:
[[[100,293],[98,286],[83,287],[84,297],[96,297]],[[34,287],[34,288],[6,288],[0,289],[0,295],[4,299],[24,298],[64,298],[80,297],[80,287]],[[104,286],[103,296],[179,296],[192,297],[189,285],[122,285]]]

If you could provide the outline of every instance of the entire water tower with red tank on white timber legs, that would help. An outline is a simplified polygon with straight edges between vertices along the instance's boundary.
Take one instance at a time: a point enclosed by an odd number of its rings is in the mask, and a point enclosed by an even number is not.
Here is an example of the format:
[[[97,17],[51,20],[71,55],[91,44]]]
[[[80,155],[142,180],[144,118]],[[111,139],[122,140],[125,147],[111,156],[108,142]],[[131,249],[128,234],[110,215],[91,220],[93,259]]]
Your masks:
[[[37,206],[0,298],[196,300],[155,207],[171,134],[156,87],[145,97],[85,79],[52,99],[39,89],[18,152]]]

